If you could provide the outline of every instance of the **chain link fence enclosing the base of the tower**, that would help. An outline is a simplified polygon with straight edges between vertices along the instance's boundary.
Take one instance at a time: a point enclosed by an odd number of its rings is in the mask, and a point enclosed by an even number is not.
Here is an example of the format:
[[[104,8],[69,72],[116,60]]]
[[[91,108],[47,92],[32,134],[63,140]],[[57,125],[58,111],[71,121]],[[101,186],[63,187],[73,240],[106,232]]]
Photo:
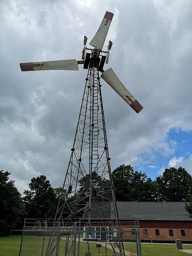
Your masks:
[[[138,222],[120,226],[87,223],[53,227],[50,220],[26,219],[19,256],[141,256]]]

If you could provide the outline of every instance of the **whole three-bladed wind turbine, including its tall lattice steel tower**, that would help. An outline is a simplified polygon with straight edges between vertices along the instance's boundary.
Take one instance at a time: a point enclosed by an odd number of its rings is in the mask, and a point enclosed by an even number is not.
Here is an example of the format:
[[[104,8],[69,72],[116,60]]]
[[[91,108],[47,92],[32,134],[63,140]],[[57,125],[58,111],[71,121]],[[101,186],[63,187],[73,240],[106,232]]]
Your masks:
[[[53,226],[55,228],[70,226],[74,227],[73,230],[77,227],[83,228],[89,252],[89,240],[94,233],[95,238],[100,236],[105,241],[109,240],[113,255],[125,255],[106,140],[100,77],[137,113],[143,107],[123,86],[112,68],[103,70],[105,61],[108,63],[112,47],[112,42],[109,41],[108,51],[102,50],[112,18],[113,13],[107,11],[90,42],[93,49],[86,47],[88,38],[84,36],[83,60],[27,62],[20,63],[20,68],[22,71],[77,71],[78,65],[83,65],[83,69],[88,69],[75,139],[71,148],[71,158]],[[102,73],[101,76],[99,72]],[[100,231],[98,231],[98,226],[94,226],[93,221],[99,223],[97,225],[101,226]],[[63,234],[58,234],[58,229],[54,227],[46,255],[52,255],[55,252],[58,255],[59,253],[59,241]],[[114,230],[118,231],[117,236]],[[74,231],[65,233],[65,236],[65,255],[72,252],[72,255],[79,255],[80,236]],[[78,241],[78,246],[76,246],[76,241]]]

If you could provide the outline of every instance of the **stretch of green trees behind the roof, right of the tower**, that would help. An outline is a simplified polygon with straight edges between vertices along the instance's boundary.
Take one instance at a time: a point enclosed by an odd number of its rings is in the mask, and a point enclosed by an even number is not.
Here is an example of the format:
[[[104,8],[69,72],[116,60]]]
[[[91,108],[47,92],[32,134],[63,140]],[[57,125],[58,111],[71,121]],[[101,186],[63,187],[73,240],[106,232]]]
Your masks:
[[[120,165],[112,176],[117,201],[182,202],[192,195],[192,177],[182,167],[165,169],[154,181],[131,165]],[[186,209],[192,217],[192,199]]]

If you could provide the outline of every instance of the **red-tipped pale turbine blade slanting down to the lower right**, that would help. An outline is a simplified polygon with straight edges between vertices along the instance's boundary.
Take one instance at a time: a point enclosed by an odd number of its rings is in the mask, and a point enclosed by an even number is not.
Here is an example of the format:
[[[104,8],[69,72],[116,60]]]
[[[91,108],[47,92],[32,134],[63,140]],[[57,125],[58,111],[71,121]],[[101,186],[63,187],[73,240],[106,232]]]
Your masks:
[[[116,76],[112,68],[104,71],[101,77],[121,96],[121,98],[126,101],[126,103],[132,107],[132,109],[135,110],[135,112],[139,113],[143,109],[142,105],[123,86],[122,82]]]

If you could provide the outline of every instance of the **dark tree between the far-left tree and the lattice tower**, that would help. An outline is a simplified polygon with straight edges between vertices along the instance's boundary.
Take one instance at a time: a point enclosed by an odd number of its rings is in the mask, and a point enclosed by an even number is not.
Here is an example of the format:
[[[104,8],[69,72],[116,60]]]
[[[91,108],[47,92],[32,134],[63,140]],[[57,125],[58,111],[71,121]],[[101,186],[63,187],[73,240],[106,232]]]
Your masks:
[[[29,188],[30,190],[24,191],[25,197],[23,198],[28,218],[54,218],[58,189],[54,191],[44,175],[32,178]]]

